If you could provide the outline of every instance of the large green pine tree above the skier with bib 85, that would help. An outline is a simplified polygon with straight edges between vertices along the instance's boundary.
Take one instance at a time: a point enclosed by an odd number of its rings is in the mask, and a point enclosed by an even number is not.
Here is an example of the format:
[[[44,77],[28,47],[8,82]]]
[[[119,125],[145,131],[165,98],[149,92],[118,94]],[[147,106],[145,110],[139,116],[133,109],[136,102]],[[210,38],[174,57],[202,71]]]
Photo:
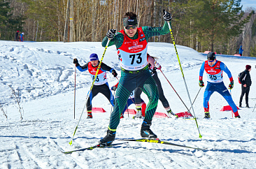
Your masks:
[[[183,4],[183,20],[190,27],[183,27],[188,35],[195,34],[206,50],[214,51],[215,44],[239,36],[250,19],[241,20],[241,0],[188,0]],[[189,29],[190,31],[187,31]],[[194,36],[194,38],[195,38]],[[205,48],[206,48],[205,47]]]

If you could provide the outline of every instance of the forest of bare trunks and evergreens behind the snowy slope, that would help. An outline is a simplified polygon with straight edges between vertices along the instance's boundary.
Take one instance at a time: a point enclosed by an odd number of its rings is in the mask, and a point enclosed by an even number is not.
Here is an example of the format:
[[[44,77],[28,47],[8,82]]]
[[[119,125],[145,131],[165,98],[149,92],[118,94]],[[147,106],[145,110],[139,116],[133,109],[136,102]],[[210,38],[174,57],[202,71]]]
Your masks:
[[[0,6],[2,40],[13,41],[16,29],[20,29],[24,31],[24,41],[102,41],[108,29],[123,29],[125,12],[137,13],[138,27],[161,27],[165,9],[173,17],[171,27],[176,44],[198,52],[211,50],[222,54],[237,54],[243,45],[244,56],[256,57],[255,8],[243,11],[241,0],[2,0],[1,3],[10,3],[10,8]],[[12,19],[6,21],[6,15]],[[169,35],[149,41],[172,43]]]

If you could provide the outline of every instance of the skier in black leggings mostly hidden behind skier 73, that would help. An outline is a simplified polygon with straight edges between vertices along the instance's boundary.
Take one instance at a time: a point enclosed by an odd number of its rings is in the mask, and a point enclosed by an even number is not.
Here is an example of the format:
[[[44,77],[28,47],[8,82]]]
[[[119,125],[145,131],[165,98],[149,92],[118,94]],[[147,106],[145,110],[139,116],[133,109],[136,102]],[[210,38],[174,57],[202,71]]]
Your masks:
[[[151,57],[150,54],[148,54],[148,68],[150,70],[150,73],[152,75],[152,78],[155,80],[155,83],[157,84],[157,89],[158,89],[158,94],[159,94],[159,100],[162,102],[162,105],[164,106],[164,109],[168,113],[169,117],[177,117],[177,115],[174,114],[174,112],[171,111],[170,105],[167,101],[167,99],[164,96],[164,90],[162,88],[162,84],[157,76],[157,69],[161,69],[161,66],[159,63],[157,63],[155,57]],[[141,88],[136,88],[135,89],[135,104],[136,104],[136,110],[137,113],[134,117],[136,118],[141,118],[141,93],[142,90]]]

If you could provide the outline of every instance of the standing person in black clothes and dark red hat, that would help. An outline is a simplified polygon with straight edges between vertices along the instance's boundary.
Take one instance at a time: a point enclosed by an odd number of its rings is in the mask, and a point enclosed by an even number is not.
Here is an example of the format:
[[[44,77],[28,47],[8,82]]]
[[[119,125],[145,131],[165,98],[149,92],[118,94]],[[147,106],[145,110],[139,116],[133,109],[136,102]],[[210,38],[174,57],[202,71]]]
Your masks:
[[[248,104],[250,85],[252,84],[252,80],[250,79],[250,70],[252,70],[251,66],[246,65],[246,70],[243,71],[239,77],[239,81],[241,82],[241,86],[242,86],[242,92],[241,92],[240,101],[239,101],[239,108],[242,107],[242,100],[243,100],[244,94],[246,94],[246,108],[250,108]]]

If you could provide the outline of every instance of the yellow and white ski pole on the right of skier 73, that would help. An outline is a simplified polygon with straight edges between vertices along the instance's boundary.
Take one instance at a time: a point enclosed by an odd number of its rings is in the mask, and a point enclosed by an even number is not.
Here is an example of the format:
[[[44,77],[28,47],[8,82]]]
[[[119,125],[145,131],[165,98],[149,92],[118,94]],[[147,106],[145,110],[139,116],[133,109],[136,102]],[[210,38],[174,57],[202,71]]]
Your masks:
[[[164,10],[164,11],[165,11],[165,10]],[[191,107],[192,107],[192,111],[193,111],[193,113],[194,113],[194,108],[193,108],[193,105],[192,105],[192,102],[191,102],[190,93],[188,92],[188,89],[187,89],[187,83],[186,83],[185,76],[184,76],[184,73],[183,73],[183,68],[182,68],[182,66],[181,66],[181,64],[180,64],[180,58],[178,57],[177,47],[176,47],[176,44],[175,44],[175,41],[174,41],[174,38],[173,38],[173,32],[171,31],[171,24],[170,24],[170,22],[167,22],[167,24],[168,24],[168,26],[169,26],[169,31],[170,31],[170,33],[171,33],[171,39],[172,39],[172,41],[173,41],[174,49],[175,49],[175,52],[176,52],[176,55],[177,55],[177,58],[178,58],[178,64],[180,65],[180,71],[181,71],[181,73],[182,73],[182,75],[183,75],[183,81],[184,81],[184,83],[185,83],[185,87],[186,87],[186,90],[187,90],[187,96],[188,96],[188,98],[190,99],[190,104],[191,104]],[[194,120],[195,120],[195,122],[196,122],[196,124],[197,124],[197,117],[196,117],[195,114],[194,114]],[[198,126],[198,124],[197,124],[197,129],[198,129],[198,132],[199,132],[199,138],[201,138],[202,136],[201,136],[201,133],[200,133],[200,131],[199,131],[199,126]]]

